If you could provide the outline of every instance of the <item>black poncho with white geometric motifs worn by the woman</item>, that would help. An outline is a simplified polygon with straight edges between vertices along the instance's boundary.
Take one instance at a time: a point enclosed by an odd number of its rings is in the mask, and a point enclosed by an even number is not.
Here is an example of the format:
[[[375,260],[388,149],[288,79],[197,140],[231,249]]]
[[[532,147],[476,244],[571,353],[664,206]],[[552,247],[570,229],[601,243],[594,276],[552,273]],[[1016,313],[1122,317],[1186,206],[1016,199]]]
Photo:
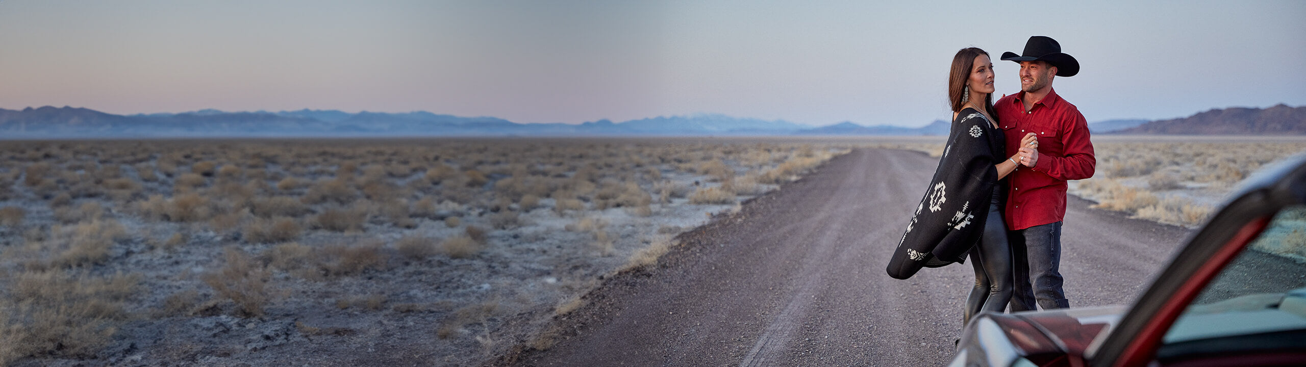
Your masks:
[[[889,259],[889,277],[910,278],[922,266],[964,263],[983,234],[998,170],[1006,159],[1004,136],[983,115],[964,108],[952,120],[939,167],[916,206]]]

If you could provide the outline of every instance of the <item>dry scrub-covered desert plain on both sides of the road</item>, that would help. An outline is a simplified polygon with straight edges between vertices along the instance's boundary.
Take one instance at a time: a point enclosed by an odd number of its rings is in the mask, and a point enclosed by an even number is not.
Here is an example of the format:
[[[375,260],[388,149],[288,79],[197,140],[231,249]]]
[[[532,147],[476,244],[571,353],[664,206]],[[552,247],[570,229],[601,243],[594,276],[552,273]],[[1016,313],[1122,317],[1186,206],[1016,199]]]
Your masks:
[[[1181,227],[1306,150],[1094,145],[1072,195]],[[4,141],[0,366],[475,366],[549,349],[605,277],[852,149],[936,157],[943,138]]]

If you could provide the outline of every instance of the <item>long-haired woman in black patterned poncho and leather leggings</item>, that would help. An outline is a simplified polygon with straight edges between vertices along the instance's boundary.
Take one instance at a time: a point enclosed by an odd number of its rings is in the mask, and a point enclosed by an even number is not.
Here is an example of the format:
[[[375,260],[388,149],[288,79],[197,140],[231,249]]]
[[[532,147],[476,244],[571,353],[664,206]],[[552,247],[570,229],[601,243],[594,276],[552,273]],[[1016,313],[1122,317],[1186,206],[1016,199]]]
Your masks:
[[[1003,157],[1003,132],[994,120],[993,63],[983,50],[969,47],[952,57],[948,99],[952,131],[934,179],[889,260],[891,277],[905,279],[923,266],[964,263],[969,253],[976,286],[966,299],[964,321],[982,311],[1002,312],[1011,299],[1011,248],[1002,219],[999,183],[1019,165]],[[1037,146],[1030,133],[1023,145]]]

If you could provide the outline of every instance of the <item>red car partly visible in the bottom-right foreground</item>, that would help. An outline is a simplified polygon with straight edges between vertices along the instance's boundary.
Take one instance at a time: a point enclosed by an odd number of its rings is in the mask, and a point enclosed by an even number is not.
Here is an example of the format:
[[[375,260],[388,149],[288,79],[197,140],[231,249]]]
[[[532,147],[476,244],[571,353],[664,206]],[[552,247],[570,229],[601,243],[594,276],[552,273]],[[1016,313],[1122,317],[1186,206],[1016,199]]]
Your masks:
[[[1234,192],[1132,306],[981,313],[949,366],[1306,366],[1306,155]]]

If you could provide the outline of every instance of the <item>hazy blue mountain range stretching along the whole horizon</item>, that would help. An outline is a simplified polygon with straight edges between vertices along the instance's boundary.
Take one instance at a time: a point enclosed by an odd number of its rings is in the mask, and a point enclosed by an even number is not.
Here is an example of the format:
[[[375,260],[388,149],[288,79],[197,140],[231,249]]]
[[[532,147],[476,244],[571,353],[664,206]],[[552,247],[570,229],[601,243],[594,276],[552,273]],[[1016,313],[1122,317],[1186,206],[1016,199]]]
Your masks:
[[[124,137],[407,137],[407,136],[946,136],[951,123],[919,128],[844,121],[812,128],[784,120],[725,115],[658,116],[614,123],[518,124],[499,118],[464,118],[424,111],[406,114],[336,110],[112,115],[89,108],[0,108],[0,138]],[[1306,135],[1306,107],[1211,110],[1186,119],[1091,123],[1093,133]]]

